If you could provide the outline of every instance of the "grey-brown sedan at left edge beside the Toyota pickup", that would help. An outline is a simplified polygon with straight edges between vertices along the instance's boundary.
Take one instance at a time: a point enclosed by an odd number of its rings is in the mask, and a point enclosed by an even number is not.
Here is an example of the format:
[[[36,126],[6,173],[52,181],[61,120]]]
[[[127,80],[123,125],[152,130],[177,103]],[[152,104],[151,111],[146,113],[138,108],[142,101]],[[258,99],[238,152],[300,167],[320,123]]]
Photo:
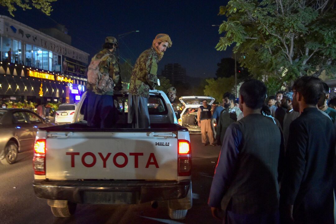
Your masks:
[[[18,152],[34,148],[37,129],[52,125],[28,109],[0,109],[0,162],[15,163]]]

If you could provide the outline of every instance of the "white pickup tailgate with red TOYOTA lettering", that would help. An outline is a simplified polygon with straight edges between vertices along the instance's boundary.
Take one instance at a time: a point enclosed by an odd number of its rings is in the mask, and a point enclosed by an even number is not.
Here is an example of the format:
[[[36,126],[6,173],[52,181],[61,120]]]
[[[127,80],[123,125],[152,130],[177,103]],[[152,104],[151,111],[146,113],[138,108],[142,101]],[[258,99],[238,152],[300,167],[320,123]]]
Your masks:
[[[46,178],[177,180],[176,132],[48,132]]]

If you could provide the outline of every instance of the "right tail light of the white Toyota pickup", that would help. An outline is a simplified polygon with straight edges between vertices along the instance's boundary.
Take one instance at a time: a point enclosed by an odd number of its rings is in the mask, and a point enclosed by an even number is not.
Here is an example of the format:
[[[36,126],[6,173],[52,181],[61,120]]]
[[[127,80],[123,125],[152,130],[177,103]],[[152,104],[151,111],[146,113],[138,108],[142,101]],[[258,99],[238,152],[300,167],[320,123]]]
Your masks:
[[[178,176],[191,175],[191,145],[187,140],[178,140]]]

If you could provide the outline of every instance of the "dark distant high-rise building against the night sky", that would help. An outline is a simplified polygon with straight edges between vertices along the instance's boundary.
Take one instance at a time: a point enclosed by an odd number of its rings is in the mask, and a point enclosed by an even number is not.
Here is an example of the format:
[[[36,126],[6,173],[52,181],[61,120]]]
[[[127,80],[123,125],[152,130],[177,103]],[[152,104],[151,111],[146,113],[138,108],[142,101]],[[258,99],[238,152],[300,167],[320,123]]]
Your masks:
[[[186,71],[178,63],[166,64],[161,75],[169,79],[173,86],[177,83],[186,83]]]

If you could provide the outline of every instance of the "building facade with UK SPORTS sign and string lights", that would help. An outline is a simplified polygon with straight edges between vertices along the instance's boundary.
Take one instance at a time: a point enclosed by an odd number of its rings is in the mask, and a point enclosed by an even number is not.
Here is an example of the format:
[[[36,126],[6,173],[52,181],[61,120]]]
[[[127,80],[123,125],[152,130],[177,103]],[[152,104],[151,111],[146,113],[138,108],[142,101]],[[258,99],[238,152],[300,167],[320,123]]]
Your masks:
[[[0,15],[0,100],[78,102],[89,54]]]

